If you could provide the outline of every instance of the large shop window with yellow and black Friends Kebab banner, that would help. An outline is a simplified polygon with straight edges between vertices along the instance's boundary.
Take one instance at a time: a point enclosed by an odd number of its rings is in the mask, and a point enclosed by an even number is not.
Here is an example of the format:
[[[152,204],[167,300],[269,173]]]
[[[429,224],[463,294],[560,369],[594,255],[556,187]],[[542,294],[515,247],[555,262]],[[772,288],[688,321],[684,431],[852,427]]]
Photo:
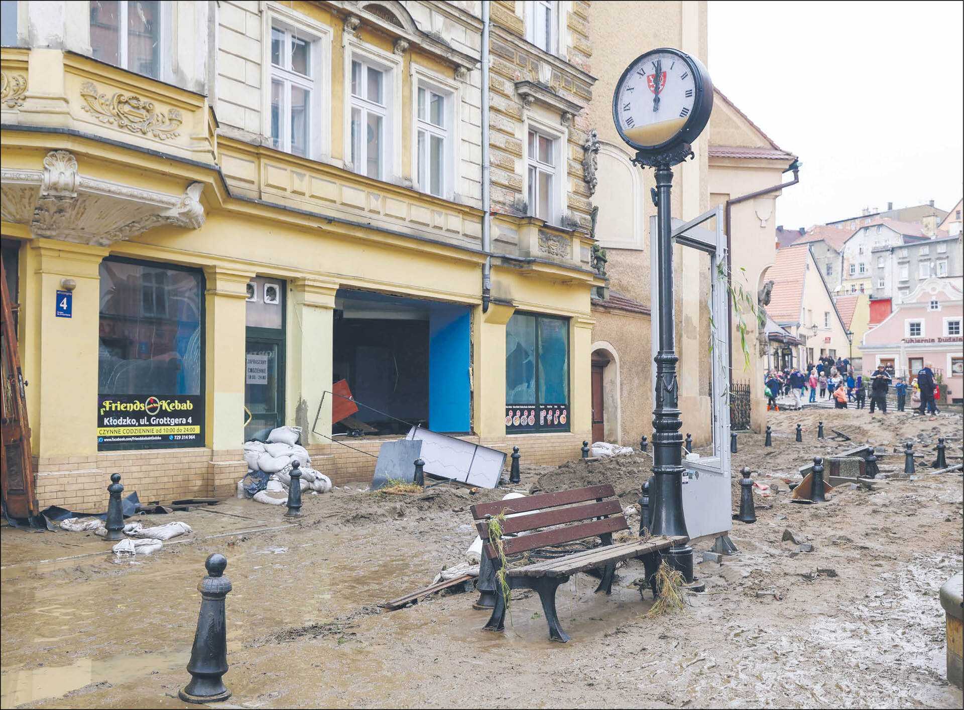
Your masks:
[[[204,445],[201,272],[100,264],[97,449]]]

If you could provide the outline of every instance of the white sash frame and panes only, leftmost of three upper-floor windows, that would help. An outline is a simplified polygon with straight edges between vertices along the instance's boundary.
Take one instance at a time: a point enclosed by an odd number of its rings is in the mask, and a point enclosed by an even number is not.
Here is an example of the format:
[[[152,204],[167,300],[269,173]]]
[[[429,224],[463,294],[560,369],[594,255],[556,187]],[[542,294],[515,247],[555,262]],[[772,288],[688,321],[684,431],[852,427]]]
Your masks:
[[[286,27],[271,28],[271,141],[286,153],[308,157],[315,42]]]

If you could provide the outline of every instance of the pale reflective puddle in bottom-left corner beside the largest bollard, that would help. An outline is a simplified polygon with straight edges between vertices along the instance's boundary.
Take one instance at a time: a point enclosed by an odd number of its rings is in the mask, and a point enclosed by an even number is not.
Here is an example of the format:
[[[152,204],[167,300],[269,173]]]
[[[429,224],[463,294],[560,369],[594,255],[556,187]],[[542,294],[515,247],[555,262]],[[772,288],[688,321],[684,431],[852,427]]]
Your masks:
[[[13,707],[45,697],[61,697],[91,683],[106,681],[117,685],[151,671],[183,669],[190,656],[191,649],[186,647],[177,652],[138,656],[78,658],[69,666],[4,669],[0,674],[0,705]]]

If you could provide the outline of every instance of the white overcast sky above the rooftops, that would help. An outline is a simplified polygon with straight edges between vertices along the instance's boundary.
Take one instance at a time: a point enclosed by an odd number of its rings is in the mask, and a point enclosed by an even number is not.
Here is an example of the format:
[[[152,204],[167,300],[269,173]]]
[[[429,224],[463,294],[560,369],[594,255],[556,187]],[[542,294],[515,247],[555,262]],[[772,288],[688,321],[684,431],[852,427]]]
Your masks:
[[[964,4],[709,6],[713,84],[803,163],[777,224],[961,197]]]

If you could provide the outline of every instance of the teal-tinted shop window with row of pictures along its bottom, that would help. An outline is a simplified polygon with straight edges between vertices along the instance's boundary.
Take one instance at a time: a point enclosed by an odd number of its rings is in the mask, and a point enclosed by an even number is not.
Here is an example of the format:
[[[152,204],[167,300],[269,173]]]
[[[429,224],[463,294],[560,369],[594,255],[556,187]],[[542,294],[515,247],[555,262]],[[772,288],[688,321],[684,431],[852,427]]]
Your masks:
[[[505,431],[568,432],[569,322],[516,313],[505,327]]]

